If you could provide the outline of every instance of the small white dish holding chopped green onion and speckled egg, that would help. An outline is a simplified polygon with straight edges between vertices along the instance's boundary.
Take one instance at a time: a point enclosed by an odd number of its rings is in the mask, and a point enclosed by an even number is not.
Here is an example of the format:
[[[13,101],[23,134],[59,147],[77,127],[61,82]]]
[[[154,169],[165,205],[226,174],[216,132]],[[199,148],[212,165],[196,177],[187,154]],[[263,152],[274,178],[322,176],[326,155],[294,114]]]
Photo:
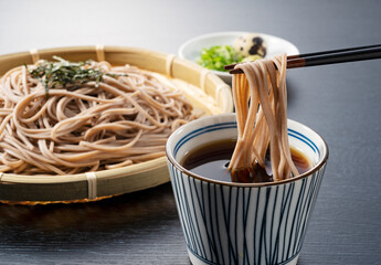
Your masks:
[[[254,32],[243,32],[243,31],[230,31],[230,32],[215,32],[210,34],[204,34],[195,36],[186,43],[183,43],[179,49],[179,56],[192,62],[197,62],[200,57],[201,51],[204,47],[210,47],[213,45],[232,45],[234,40],[243,34],[254,33]],[[287,53],[287,55],[299,54],[299,50],[290,42],[268,34],[256,33],[261,35],[267,42],[267,55],[266,57],[272,57],[277,54]],[[225,83],[231,84],[232,76],[226,72],[212,71],[214,74],[220,76]]]

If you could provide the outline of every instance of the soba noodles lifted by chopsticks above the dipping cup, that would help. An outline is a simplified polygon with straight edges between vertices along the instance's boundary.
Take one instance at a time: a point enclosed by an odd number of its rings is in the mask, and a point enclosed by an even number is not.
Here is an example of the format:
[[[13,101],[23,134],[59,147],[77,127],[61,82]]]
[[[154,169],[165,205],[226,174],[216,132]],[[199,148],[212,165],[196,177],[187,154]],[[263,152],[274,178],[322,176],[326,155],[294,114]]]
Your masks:
[[[233,75],[237,144],[230,169],[232,172],[265,168],[269,147],[274,181],[297,176],[287,135],[286,54],[271,60],[237,64],[244,74]]]

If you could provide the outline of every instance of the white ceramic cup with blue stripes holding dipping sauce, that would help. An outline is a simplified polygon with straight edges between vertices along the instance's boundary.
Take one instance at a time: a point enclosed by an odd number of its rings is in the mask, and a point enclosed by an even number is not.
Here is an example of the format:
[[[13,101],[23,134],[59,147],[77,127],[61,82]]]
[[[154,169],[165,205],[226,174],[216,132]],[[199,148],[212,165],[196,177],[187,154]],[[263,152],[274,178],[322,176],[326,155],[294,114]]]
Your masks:
[[[236,135],[235,115],[226,114],[189,123],[168,139],[168,168],[189,257],[193,265],[296,264],[328,147],[318,134],[288,120],[290,146],[314,165],[290,180],[222,182],[194,174],[179,163],[189,150]]]

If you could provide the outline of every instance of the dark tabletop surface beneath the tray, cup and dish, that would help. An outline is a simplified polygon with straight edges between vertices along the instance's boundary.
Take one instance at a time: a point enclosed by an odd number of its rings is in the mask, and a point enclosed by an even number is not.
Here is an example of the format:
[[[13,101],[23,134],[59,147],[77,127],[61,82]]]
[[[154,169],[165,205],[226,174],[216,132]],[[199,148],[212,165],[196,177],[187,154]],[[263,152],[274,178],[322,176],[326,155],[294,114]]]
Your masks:
[[[381,43],[381,2],[0,1],[0,54],[72,45],[176,54],[190,38],[251,31],[301,53]],[[298,264],[381,262],[381,60],[289,70],[289,118],[330,158]],[[0,204],[1,264],[187,264],[170,183],[86,204]]]

